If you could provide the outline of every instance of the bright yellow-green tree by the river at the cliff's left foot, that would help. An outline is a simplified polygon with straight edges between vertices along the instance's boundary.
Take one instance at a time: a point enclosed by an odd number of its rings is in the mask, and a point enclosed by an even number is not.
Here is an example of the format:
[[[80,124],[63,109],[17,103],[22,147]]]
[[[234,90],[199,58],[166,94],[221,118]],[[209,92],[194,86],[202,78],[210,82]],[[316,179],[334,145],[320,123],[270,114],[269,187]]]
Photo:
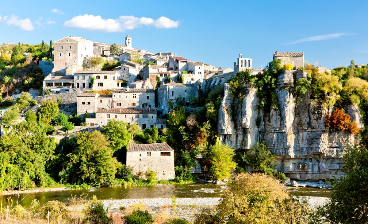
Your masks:
[[[216,143],[209,147],[208,158],[212,164],[210,172],[216,179],[230,177],[230,171],[236,168],[236,162],[233,160],[234,154],[234,149],[222,144],[219,137]]]

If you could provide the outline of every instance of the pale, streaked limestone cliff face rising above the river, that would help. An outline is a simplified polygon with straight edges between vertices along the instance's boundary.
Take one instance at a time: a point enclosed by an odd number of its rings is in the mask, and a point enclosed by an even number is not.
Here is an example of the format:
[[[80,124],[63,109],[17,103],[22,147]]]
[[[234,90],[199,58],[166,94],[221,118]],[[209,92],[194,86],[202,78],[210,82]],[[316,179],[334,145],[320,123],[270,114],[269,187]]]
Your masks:
[[[265,112],[255,88],[248,87],[242,101],[234,99],[228,84],[219,109],[217,131],[223,143],[236,149],[250,149],[259,141],[276,155],[276,169],[297,180],[323,180],[344,175],[339,154],[358,137],[348,132],[332,132],[324,125],[322,105],[310,100],[310,90],[296,101],[294,81],[306,78],[305,71],[286,70],[277,80],[277,110]],[[362,128],[357,106],[346,113]]]

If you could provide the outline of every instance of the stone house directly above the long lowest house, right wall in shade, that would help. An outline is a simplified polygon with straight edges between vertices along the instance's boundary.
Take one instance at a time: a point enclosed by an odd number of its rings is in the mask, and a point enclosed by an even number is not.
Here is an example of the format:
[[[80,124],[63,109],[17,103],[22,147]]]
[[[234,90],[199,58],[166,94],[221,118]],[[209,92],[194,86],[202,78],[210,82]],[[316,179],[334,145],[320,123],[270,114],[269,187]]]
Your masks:
[[[142,88],[114,89],[113,108],[155,108],[155,90]]]

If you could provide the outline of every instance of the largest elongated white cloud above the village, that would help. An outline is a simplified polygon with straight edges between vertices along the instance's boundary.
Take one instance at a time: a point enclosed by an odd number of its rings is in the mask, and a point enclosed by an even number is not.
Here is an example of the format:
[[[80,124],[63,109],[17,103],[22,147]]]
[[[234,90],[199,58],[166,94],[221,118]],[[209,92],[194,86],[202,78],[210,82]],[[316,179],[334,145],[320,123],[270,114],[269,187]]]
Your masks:
[[[117,19],[103,19],[100,15],[78,15],[64,22],[65,26],[75,27],[88,30],[99,30],[106,32],[121,32],[123,30],[131,30],[137,27],[156,26],[158,28],[176,28],[179,21],[173,21],[169,18],[161,16],[159,19],[146,17],[135,17],[122,15]]]

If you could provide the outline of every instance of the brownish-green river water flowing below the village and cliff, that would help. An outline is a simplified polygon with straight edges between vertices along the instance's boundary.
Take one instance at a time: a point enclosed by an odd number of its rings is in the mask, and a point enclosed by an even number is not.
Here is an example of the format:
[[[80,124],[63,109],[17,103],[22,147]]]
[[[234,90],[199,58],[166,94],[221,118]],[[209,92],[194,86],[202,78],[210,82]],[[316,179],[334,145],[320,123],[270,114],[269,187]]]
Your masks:
[[[20,199],[24,198],[20,204],[29,206],[33,199],[40,201],[43,205],[47,201],[59,200],[68,201],[71,195],[88,194],[87,198],[96,195],[98,199],[130,199],[130,198],[171,198],[173,195],[177,198],[196,198],[196,197],[221,197],[224,188],[210,183],[194,183],[194,184],[172,184],[163,186],[131,186],[131,187],[102,187],[92,190],[65,190],[65,191],[49,191],[20,194]],[[330,197],[330,190],[308,188],[308,187],[286,187],[291,195],[297,196],[315,196]],[[8,197],[12,197],[15,203],[15,195],[0,196],[3,206],[6,205]]]

